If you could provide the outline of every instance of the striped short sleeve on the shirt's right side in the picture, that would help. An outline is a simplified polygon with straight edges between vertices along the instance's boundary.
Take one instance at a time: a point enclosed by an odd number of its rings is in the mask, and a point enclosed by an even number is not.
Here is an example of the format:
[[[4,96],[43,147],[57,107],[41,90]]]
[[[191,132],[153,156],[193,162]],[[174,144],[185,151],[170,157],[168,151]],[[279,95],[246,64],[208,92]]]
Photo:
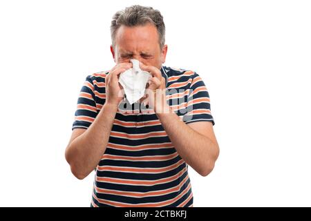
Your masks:
[[[187,99],[187,112],[183,115],[182,120],[186,124],[206,121],[214,125],[215,122],[211,115],[211,104],[207,88],[197,73],[194,73],[191,78],[192,81]]]

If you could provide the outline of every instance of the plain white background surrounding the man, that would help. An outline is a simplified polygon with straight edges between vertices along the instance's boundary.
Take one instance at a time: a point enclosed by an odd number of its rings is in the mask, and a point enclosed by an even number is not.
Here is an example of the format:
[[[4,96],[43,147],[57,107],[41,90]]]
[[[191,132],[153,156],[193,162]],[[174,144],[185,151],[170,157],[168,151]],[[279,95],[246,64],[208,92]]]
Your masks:
[[[86,75],[114,66],[109,26],[162,12],[165,65],[195,70],[220,157],[194,206],[311,206],[310,1],[0,1],[0,206],[89,206],[64,157]]]

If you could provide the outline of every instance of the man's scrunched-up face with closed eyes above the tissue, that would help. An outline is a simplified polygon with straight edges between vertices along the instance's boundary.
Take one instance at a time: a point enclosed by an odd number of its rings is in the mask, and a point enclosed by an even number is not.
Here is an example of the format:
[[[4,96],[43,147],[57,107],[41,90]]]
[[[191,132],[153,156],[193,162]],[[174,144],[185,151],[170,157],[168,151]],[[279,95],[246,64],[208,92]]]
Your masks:
[[[120,26],[115,35],[115,48],[111,46],[115,63],[130,62],[137,59],[147,66],[161,68],[167,55],[167,45],[160,49],[156,26]]]

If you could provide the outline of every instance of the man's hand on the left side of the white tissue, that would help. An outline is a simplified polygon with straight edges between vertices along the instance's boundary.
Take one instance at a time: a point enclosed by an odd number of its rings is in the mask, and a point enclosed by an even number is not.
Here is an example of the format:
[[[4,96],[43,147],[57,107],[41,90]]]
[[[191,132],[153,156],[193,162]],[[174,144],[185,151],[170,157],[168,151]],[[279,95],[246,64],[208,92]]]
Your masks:
[[[106,75],[106,104],[119,105],[124,96],[124,91],[119,83],[120,73],[132,68],[132,63],[119,63]]]

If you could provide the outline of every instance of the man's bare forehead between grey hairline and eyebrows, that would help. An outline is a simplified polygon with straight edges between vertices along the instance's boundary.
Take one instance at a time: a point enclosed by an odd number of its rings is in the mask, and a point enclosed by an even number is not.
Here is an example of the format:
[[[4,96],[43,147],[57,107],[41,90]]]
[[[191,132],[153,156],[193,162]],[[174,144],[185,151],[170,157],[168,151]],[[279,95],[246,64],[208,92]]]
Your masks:
[[[115,46],[120,52],[152,52],[159,47],[156,26],[147,23],[144,26],[120,26],[115,35]]]

